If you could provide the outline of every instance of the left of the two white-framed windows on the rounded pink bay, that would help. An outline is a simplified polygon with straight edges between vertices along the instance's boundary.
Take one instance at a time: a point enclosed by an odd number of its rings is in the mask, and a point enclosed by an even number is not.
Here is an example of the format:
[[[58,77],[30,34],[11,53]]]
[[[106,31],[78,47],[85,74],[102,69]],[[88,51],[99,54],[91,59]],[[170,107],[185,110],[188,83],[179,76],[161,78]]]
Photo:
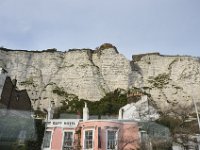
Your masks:
[[[84,148],[93,149],[93,130],[85,131]]]

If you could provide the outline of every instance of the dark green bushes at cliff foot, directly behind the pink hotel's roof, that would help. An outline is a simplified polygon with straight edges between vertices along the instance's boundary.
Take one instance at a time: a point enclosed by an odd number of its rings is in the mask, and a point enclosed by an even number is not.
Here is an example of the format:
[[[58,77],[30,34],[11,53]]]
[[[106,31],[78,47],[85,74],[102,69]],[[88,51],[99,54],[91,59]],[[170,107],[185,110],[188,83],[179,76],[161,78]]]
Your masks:
[[[117,115],[119,109],[128,102],[127,94],[120,89],[107,93],[100,101],[95,102],[79,99],[78,96],[65,92],[63,88],[57,87],[54,89],[54,93],[65,97],[65,100],[61,102],[62,106],[56,109],[56,117],[59,117],[60,113],[75,113],[82,115],[82,109],[85,102],[90,110],[90,115],[98,115],[99,118],[101,115]]]

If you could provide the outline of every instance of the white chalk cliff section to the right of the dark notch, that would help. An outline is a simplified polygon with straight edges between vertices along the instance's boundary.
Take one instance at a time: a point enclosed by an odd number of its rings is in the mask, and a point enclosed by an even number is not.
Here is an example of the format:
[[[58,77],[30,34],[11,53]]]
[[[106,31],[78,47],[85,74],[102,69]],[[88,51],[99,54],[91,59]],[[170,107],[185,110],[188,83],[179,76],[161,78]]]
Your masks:
[[[134,86],[147,89],[161,110],[193,105],[200,96],[200,59],[187,56],[148,54],[137,60]],[[140,83],[138,83],[140,81]]]

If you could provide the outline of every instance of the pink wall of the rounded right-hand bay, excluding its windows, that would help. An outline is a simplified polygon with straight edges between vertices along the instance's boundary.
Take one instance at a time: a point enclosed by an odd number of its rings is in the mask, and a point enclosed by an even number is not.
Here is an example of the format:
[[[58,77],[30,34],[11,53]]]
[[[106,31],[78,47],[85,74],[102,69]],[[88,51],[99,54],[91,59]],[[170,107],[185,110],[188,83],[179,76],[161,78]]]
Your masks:
[[[133,122],[119,121],[86,121],[80,122],[81,129],[81,146],[83,147],[84,130],[94,130],[94,150],[106,149],[106,132],[108,129],[118,129],[118,149],[136,150],[139,147],[139,128]],[[98,148],[98,127],[101,127],[101,149]]]

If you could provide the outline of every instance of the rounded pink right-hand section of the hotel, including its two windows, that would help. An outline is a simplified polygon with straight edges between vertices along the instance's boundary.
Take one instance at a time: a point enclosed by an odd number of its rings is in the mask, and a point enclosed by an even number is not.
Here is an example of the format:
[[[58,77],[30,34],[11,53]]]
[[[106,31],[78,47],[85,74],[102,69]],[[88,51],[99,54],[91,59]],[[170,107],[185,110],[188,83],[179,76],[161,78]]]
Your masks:
[[[139,129],[134,122],[120,120],[88,120],[80,122],[81,149],[136,150]]]

